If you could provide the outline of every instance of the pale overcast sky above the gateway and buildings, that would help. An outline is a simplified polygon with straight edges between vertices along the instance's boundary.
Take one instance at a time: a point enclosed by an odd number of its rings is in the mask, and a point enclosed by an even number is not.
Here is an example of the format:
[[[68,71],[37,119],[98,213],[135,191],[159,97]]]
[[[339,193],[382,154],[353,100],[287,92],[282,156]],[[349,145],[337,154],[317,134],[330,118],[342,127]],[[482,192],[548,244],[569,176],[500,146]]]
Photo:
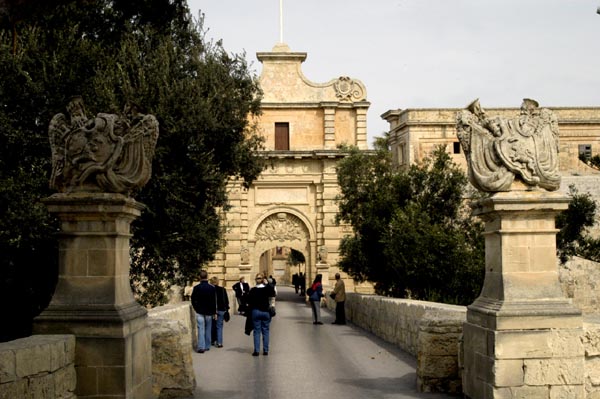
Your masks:
[[[188,0],[228,52],[280,40],[279,0]],[[600,106],[600,0],[283,0],[283,42],[315,83],[367,88],[369,145],[390,109]]]

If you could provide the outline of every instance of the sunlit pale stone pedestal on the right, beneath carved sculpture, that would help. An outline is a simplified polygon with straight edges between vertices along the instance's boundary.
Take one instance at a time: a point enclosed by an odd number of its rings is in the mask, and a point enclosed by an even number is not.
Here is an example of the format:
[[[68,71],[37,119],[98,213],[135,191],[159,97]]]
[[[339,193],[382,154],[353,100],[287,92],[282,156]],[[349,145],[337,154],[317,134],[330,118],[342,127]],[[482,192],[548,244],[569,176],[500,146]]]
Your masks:
[[[555,216],[568,198],[539,191],[479,202],[485,282],[463,328],[472,399],[583,398],[581,312],[558,281]]]

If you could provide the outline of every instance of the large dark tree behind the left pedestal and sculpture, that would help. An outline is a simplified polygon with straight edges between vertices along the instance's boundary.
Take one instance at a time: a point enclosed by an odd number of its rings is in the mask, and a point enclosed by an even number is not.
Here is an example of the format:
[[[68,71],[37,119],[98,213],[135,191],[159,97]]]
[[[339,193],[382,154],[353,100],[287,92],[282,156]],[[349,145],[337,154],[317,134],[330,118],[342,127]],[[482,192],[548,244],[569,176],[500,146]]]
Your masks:
[[[159,120],[131,271],[141,301],[161,303],[219,247],[228,178],[248,185],[262,170],[248,122],[261,93],[243,54],[208,40],[185,0],[5,1],[0,28],[0,290],[11,304],[35,298],[11,314],[30,320],[54,289],[57,224],[39,200],[51,194],[48,123],[73,95],[88,116],[133,102]]]

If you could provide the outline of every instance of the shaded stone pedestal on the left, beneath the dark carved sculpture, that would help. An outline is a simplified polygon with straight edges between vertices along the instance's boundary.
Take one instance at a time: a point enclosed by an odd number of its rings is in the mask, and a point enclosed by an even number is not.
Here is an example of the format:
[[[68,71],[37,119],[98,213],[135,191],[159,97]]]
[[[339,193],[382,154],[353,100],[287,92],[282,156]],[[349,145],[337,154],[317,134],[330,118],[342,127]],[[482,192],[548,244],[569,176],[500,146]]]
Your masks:
[[[152,398],[147,312],[129,285],[129,227],[143,205],[107,193],[55,194],[44,203],[61,223],[60,270],[35,333],[76,336],[78,398]]]

